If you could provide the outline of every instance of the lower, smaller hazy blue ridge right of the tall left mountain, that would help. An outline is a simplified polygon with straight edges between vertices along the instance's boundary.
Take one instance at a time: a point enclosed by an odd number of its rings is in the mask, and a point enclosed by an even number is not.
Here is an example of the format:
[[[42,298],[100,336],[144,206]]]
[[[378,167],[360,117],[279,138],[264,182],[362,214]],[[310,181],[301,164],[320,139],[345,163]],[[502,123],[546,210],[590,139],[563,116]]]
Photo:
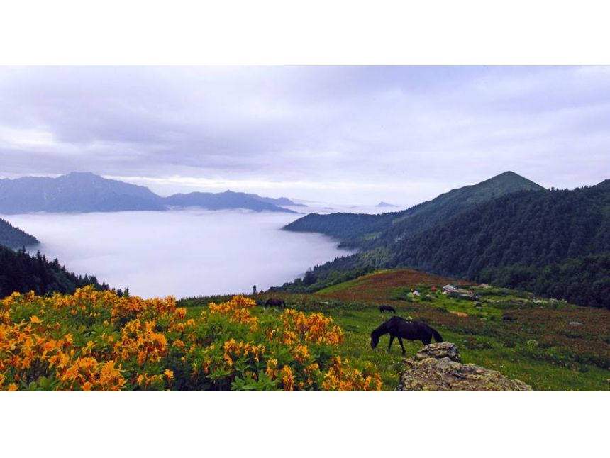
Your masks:
[[[174,194],[165,197],[163,203],[172,207],[201,207],[208,210],[223,210],[228,208],[246,208],[253,211],[283,211],[296,213],[288,208],[282,208],[260,199],[253,194],[224,191],[221,193],[192,192],[189,194]]]

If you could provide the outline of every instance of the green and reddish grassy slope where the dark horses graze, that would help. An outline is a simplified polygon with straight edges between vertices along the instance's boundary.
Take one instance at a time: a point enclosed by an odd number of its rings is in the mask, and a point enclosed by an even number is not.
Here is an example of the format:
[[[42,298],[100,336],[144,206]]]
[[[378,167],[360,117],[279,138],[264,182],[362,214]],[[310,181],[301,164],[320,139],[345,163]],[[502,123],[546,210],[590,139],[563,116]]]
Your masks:
[[[371,330],[389,318],[379,313],[381,303],[394,306],[398,315],[405,318],[433,325],[445,340],[457,345],[464,362],[499,370],[536,390],[610,388],[610,311],[536,301],[531,294],[506,289],[478,290],[481,308],[440,293],[431,294],[429,301],[409,296],[411,288],[429,291],[430,286],[443,286],[448,281],[423,272],[396,269],[368,274],[316,294],[275,296],[283,297],[293,308],[332,316],[345,332],[345,357],[355,363],[373,362],[382,374],[385,389],[394,389],[398,383],[401,353],[397,342],[391,352],[385,350],[387,336],[382,337],[376,350],[369,345]],[[189,313],[199,313],[208,301],[190,299],[182,301],[182,306],[191,306]],[[512,319],[503,320],[503,316]],[[572,321],[583,325],[572,327]],[[405,343],[408,355],[421,348],[421,342]]]

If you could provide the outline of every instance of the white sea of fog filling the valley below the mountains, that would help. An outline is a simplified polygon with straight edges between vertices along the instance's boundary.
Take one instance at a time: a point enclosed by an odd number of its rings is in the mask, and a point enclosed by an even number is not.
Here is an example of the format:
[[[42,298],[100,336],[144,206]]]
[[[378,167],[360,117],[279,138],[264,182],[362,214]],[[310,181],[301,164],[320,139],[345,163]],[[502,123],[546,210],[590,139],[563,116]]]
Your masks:
[[[0,217],[40,240],[33,251],[72,272],[138,296],[182,298],[267,289],[347,254],[326,236],[281,230],[301,216],[192,210]]]

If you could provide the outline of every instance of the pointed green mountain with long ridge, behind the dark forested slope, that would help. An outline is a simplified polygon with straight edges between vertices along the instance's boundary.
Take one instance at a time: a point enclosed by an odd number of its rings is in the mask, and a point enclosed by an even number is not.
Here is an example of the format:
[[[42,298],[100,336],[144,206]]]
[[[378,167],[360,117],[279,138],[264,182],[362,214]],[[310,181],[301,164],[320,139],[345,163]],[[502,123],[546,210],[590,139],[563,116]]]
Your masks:
[[[453,189],[431,201],[420,203],[404,211],[367,215],[356,213],[310,213],[287,225],[284,229],[316,232],[338,238],[345,247],[370,248],[409,233],[430,228],[480,203],[517,191],[537,191],[542,186],[514,172],[504,172],[472,186]]]

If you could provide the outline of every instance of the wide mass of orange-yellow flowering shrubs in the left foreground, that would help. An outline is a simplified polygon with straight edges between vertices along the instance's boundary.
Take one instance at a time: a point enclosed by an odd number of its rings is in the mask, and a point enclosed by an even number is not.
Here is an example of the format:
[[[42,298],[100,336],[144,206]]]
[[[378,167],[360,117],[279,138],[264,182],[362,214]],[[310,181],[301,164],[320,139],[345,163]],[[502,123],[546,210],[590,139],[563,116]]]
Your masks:
[[[14,293],[0,301],[0,390],[377,390],[321,313],[235,296],[187,319],[174,298]]]

